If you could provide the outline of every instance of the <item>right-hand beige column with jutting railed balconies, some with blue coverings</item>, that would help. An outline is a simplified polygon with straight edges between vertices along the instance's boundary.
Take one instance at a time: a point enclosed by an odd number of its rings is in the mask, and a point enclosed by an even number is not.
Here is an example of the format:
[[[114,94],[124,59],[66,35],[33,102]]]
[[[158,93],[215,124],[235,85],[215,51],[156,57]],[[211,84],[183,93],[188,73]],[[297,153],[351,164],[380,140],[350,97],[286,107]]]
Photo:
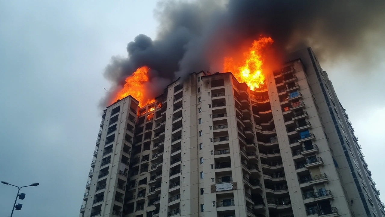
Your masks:
[[[350,216],[301,61],[293,61],[275,74],[275,83],[280,105],[277,103],[274,110],[280,121],[282,143],[287,144],[281,150],[285,152],[286,174],[291,178],[290,197],[296,200],[294,210],[300,216],[305,216],[303,211],[306,215]]]

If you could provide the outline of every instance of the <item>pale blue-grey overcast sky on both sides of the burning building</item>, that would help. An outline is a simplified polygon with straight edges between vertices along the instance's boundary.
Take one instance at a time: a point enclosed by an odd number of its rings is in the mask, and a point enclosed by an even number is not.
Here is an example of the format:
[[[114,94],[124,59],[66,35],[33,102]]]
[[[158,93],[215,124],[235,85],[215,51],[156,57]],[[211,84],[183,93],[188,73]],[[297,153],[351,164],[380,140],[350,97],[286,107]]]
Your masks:
[[[40,183],[22,190],[15,217],[79,215],[101,120],[97,105],[109,87],[104,67],[111,56],[126,56],[137,34],[156,35],[155,7],[155,0],[0,0],[0,180]],[[385,201],[385,65],[358,71],[352,61],[321,66]],[[0,184],[0,217],[10,215],[16,192]]]

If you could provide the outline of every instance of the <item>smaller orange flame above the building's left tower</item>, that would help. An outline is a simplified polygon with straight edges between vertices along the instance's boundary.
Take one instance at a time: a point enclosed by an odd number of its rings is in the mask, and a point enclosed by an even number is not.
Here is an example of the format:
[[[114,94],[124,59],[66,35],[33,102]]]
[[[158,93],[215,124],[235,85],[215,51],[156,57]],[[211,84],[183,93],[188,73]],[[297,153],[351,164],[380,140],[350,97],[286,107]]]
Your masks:
[[[134,73],[132,73],[132,75],[128,76],[123,88],[115,94],[115,97],[111,103],[114,103],[117,100],[121,100],[128,95],[131,95],[139,101],[139,107],[143,107],[144,105],[155,102],[155,99],[145,99],[143,94],[146,92],[144,84],[149,81],[149,71],[149,67],[142,66],[138,68]]]

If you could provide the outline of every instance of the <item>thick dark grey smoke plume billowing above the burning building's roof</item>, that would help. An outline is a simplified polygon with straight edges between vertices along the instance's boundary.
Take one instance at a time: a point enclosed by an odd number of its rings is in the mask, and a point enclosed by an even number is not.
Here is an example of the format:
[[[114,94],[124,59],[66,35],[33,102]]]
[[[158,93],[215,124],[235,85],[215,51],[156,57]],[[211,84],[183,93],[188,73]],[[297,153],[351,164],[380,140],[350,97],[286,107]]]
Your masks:
[[[128,57],[113,57],[106,67],[113,87],[146,65],[152,83],[163,81],[156,96],[164,83],[209,70],[261,34],[274,39],[282,56],[311,46],[321,60],[354,58],[365,66],[383,59],[385,1],[166,0],[158,5],[156,39],[138,35],[127,45]]]

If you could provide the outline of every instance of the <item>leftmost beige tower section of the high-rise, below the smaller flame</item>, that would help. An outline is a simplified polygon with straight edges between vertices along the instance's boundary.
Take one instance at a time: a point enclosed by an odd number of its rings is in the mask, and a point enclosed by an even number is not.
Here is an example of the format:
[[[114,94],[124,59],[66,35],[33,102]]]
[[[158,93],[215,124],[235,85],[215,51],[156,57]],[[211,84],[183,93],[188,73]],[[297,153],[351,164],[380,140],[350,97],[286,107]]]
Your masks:
[[[131,110],[135,112],[136,107],[137,102],[128,97],[104,111],[81,216],[122,215],[131,149],[130,134],[132,138],[129,130],[133,129],[127,124],[129,119],[135,118]]]

